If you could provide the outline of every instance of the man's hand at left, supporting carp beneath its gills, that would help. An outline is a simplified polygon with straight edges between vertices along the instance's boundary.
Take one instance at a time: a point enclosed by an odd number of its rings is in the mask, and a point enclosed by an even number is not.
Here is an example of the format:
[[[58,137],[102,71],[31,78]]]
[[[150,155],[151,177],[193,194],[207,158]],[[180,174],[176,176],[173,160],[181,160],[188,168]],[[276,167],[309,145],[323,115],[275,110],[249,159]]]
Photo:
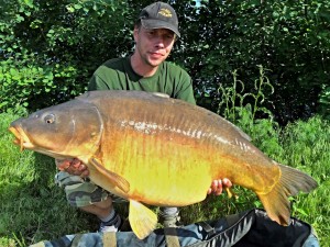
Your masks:
[[[65,159],[65,160],[55,160],[58,170],[66,171],[70,175],[80,176],[86,178],[89,176],[88,168],[79,159]]]

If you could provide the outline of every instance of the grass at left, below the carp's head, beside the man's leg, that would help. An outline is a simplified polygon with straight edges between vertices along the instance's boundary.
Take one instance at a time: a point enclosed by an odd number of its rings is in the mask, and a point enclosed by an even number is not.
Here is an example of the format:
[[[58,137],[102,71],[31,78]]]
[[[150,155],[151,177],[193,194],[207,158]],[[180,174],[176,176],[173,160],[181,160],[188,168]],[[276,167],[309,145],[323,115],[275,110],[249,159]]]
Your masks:
[[[7,130],[15,119],[11,113],[0,117],[0,247],[96,229],[95,220],[70,207],[64,191],[54,184],[54,160],[33,151],[20,153],[12,144]]]

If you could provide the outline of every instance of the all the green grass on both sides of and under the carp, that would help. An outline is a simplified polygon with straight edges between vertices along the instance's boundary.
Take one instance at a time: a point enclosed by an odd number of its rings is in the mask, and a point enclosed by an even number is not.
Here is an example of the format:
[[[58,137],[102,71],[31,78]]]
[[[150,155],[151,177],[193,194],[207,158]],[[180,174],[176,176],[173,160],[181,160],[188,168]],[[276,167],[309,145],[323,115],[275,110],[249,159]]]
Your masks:
[[[250,124],[249,111],[239,124],[256,146],[273,159],[310,173],[319,188],[294,199],[293,215],[311,224],[321,246],[330,246],[330,126],[320,117],[298,121],[280,130],[271,120]],[[22,113],[0,115],[0,247],[26,246],[66,234],[95,232],[98,223],[89,214],[70,207],[64,191],[54,184],[56,172],[52,158],[33,151],[20,153],[7,131],[11,121]],[[245,117],[245,120],[244,120]],[[270,122],[271,121],[271,122]],[[208,197],[201,203],[182,210],[185,224],[261,206],[249,190],[235,188],[239,200],[226,194]],[[127,215],[127,207],[119,207]]]

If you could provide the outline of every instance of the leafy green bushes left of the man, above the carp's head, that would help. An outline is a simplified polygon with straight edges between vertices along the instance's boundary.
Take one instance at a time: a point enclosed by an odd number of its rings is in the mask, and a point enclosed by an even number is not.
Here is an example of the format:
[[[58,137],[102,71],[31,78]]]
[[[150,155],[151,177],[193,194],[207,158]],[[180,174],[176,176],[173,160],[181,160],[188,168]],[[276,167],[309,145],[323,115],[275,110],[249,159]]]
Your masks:
[[[32,110],[45,108],[84,92],[92,71],[109,57],[119,56],[119,47],[131,43],[123,35],[127,35],[125,26],[132,26],[125,2],[4,3],[0,21],[0,112],[15,104]],[[129,24],[124,26],[124,22]]]

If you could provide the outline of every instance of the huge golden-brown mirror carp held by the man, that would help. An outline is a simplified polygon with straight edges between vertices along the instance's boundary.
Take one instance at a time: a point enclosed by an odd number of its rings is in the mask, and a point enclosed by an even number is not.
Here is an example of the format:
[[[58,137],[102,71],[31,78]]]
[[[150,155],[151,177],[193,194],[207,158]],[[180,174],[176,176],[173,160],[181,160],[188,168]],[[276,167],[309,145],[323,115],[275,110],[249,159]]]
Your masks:
[[[288,197],[317,187],[223,117],[160,93],[91,91],[19,119],[10,131],[22,149],[82,160],[92,182],[129,201],[129,221],[141,239],[157,223],[144,204],[200,202],[215,179],[253,190],[282,225],[289,224]]]

